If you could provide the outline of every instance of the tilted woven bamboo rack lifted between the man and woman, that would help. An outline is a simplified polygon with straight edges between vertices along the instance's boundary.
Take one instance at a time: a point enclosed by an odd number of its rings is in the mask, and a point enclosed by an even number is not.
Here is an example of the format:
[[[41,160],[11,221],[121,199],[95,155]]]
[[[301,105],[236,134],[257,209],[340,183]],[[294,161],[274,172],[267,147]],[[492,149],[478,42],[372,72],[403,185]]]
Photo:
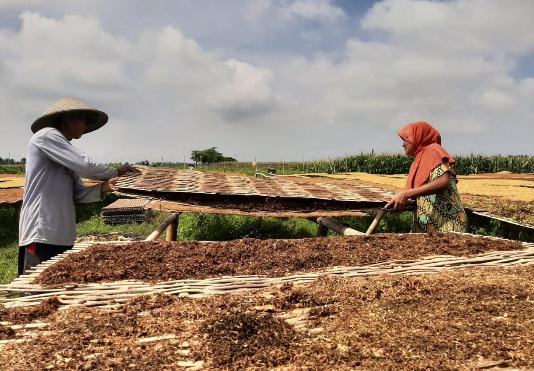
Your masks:
[[[119,192],[190,193],[211,195],[264,196],[351,202],[389,200],[395,193],[380,188],[345,184],[310,183],[281,178],[261,179],[217,172],[138,167],[117,181]]]

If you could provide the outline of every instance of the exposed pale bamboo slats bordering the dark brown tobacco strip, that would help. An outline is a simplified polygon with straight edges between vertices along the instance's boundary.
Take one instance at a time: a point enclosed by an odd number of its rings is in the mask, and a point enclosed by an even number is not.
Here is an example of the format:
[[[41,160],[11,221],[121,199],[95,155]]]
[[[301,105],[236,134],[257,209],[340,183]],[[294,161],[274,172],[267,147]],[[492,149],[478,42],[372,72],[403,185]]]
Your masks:
[[[467,233],[466,233],[467,234]],[[473,235],[480,238],[504,240],[492,236]],[[100,242],[106,244],[124,244],[129,242]],[[210,242],[205,242],[210,243]],[[524,250],[492,251],[475,257],[429,256],[420,260],[403,260],[376,263],[366,266],[334,267],[317,273],[293,274],[287,277],[264,278],[255,275],[210,278],[203,280],[174,280],[150,283],[124,280],[108,283],[87,283],[58,285],[43,288],[33,283],[45,269],[69,254],[76,254],[90,247],[93,243],[77,243],[72,250],[43,262],[15,279],[9,285],[0,285],[0,303],[6,307],[34,305],[44,299],[57,296],[64,307],[71,306],[115,306],[140,295],[164,293],[180,296],[201,297],[214,294],[238,293],[244,290],[259,290],[271,285],[285,282],[310,282],[321,275],[339,275],[343,277],[362,277],[378,274],[423,274],[436,273],[466,266],[508,266],[514,264],[534,265],[534,243],[524,243]],[[20,293],[35,295],[15,297]]]

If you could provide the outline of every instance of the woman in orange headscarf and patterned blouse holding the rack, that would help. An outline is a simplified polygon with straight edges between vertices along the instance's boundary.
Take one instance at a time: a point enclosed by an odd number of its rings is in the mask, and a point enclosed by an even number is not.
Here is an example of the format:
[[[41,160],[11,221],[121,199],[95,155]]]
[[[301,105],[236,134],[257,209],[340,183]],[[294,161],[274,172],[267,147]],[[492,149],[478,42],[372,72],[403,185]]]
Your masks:
[[[454,171],[454,159],[441,146],[441,135],[427,122],[414,122],[398,132],[404,152],[415,157],[406,187],[386,208],[402,211],[415,199],[413,232],[466,232],[467,219]]]

